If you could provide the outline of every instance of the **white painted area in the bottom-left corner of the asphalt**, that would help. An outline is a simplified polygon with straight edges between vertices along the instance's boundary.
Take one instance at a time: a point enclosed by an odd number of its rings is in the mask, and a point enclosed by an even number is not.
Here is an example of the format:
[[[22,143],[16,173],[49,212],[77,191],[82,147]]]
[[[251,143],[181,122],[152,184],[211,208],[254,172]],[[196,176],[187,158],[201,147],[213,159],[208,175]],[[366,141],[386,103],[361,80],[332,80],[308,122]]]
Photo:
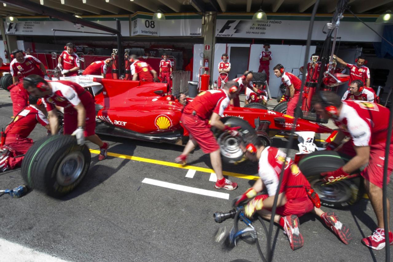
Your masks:
[[[52,257],[51,255],[35,251],[29,247],[9,242],[3,238],[0,238],[0,254],[2,254],[0,261],[67,262],[67,260]]]

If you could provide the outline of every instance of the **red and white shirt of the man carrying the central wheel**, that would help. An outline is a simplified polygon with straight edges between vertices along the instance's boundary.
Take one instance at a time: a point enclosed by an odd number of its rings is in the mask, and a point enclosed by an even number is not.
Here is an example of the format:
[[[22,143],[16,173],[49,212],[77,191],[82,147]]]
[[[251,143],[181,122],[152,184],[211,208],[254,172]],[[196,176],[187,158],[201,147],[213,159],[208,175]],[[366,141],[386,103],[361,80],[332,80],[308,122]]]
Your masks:
[[[202,120],[210,119],[213,113],[224,116],[230,99],[224,90],[208,90],[200,93],[195,99],[184,108],[184,114],[191,115],[195,111]]]

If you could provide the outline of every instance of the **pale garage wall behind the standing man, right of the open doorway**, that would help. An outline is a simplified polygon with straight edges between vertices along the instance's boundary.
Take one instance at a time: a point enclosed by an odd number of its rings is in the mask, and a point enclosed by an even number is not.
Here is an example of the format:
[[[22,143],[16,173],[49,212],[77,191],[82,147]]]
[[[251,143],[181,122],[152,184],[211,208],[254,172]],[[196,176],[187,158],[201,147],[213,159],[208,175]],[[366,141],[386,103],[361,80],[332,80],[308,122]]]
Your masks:
[[[251,45],[249,70],[258,71],[259,54],[263,49],[262,44]],[[316,46],[310,46],[310,53],[307,57],[311,57],[315,53]],[[281,78],[275,77],[273,68],[277,64],[282,64],[285,71],[299,74],[299,68],[303,66],[304,54],[306,46],[289,46],[289,45],[270,45],[272,51],[272,60],[270,60],[270,80],[269,88],[272,97],[276,97],[281,84]]]

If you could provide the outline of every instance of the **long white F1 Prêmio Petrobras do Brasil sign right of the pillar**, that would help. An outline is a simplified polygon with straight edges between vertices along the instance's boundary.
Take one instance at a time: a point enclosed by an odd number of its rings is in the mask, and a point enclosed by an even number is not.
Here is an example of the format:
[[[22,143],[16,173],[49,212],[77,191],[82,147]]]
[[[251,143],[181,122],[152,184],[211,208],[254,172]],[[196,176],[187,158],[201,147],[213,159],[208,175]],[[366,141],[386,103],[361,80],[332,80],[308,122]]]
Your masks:
[[[307,39],[310,15],[304,14],[268,14],[266,22],[252,20],[252,14],[219,14],[216,21],[216,37],[266,38],[266,39]],[[375,24],[377,15],[361,15],[361,19],[382,35],[383,25]],[[318,15],[314,21],[312,40],[325,40],[323,33],[331,15]],[[380,38],[353,16],[346,15],[340,21],[338,37],[341,41],[380,42]],[[325,27],[325,31],[327,31]]]

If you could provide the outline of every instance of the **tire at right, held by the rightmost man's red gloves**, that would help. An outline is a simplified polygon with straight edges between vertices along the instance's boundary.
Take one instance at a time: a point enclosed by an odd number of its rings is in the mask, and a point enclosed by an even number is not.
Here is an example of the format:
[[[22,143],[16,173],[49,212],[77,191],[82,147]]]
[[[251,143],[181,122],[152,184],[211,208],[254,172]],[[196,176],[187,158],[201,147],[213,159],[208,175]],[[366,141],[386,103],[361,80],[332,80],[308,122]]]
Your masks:
[[[322,185],[321,172],[336,170],[351,157],[336,151],[316,151],[303,157],[299,161],[299,169],[309,180],[311,187],[318,193],[321,205],[333,208],[342,208],[353,205],[363,194],[362,178],[352,178]]]

